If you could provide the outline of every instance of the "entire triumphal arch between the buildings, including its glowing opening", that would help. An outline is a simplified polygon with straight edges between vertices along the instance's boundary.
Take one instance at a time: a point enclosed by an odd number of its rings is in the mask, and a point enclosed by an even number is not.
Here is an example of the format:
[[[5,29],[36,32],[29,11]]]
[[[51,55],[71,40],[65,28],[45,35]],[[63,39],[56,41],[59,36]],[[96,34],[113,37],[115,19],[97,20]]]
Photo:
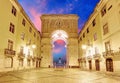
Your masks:
[[[41,21],[41,67],[78,66],[78,16],[44,14]]]

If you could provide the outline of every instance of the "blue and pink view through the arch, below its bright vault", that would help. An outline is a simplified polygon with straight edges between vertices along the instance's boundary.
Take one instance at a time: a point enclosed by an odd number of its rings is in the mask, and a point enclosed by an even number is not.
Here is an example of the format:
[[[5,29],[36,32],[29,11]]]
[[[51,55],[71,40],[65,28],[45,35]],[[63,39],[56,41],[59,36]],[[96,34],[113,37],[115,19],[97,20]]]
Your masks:
[[[58,39],[53,43],[53,66],[54,67],[65,67],[67,62],[67,49],[66,43]]]

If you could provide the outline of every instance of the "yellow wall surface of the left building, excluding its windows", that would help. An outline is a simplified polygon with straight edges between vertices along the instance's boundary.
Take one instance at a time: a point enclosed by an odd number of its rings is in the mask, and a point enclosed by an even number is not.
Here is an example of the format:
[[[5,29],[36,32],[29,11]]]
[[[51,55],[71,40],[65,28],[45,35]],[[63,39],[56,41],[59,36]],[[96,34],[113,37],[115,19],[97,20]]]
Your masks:
[[[7,5],[7,7],[6,7]],[[8,71],[8,70],[17,70],[17,69],[23,69],[23,68],[35,68],[36,63],[39,62],[41,56],[40,56],[40,41],[41,36],[38,30],[35,29],[34,25],[30,21],[27,14],[24,12],[23,8],[20,6],[20,4],[17,2],[17,0],[2,0],[0,1],[0,71]],[[12,14],[12,7],[16,9],[16,15]],[[26,21],[26,25],[22,25],[23,18]],[[10,23],[14,25],[14,33],[9,31]],[[31,27],[32,32],[29,32],[29,28]],[[21,39],[21,33],[25,33],[24,40]],[[36,33],[36,37],[34,37],[34,32]],[[28,40],[31,39],[31,44],[27,45]],[[8,40],[13,41],[13,49],[12,51],[15,51],[15,55],[11,55],[10,53],[5,54],[5,49],[8,49]],[[32,45],[35,45],[36,48],[33,49]],[[18,59],[18,54],[20,52],[20,47],[29,48],[30,49],[30,66],[28,66],[28,57],[25,55],[23,58],[23,67],[20,67],[20,62]],[[27,49],[28,50],[28,49]],[[26,51],[27,52],[27,51]],[[34,53],[33,53],[34,52]],[[13,59],[13,64],[12,64]],[[32,65],[32,60],[35,59],[35,65]],[[11,64],[13,65],[11,67]]]

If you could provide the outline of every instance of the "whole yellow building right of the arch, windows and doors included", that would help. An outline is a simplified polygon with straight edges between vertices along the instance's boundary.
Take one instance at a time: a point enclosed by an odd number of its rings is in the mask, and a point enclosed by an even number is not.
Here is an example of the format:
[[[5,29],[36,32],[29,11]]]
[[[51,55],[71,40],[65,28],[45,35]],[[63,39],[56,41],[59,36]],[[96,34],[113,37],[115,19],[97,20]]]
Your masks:
[[[118,72],[120,67],[120,1],[101,0],[79,34],[82,69]]]

